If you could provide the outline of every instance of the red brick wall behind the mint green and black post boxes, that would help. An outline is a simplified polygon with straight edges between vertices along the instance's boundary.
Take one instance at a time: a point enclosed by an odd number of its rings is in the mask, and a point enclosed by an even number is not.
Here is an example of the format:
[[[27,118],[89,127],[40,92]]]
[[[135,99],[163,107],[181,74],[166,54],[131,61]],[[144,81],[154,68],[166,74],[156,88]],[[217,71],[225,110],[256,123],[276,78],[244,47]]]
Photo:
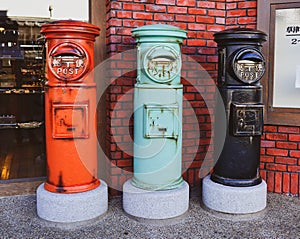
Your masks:
[[[134,54],[125,57],[116,55],[135,48],[131,30],[155,23],[171,24],[187,30],[188,39],[183,43],[182,53],[196,60],[215,79],[217,55],[213,34],[230,27],[255,28],[256,1],[107,0],[106,11],[107,54],[109,57],[115,55],[116,59],[109,63],[110,70],[107,71],[107,84],[112,83],[102,99],[106,105],[106,128],[101,132],[106,135],[102,148],[108,158],[104,177],[114,194],[114,189],[121,190],[124,181],[132,176],[133,167],[133,98],[132,93],[128,92],[134,86],[136,72],[127,71],[135,67],[136,59]],[[211,156],[208,146],[213,118],[210,118],[202,97],[213,100],[214,89],[206,85],[205,80],[200,82],[199,76],[193,75],[190,70],[183,72],[182,82],[186,99],[183,104],[183,176],[191,186],[195,186],[200,183],[199,169],[203,166],[205,155]],[[200,88],[201,92],[196,88]],[[122,103],[118,104],[120,99]],[[195,135],[197,127],[200,128],[200,140]],[[271,129],[276,129],[276,132]],[[284,129],[298,132],[281,132]],[[286,138],[281,139],[281,134]],[[279,138],[271,139],[272,135],[279,135]],[[297,137],[299,128],[265,127],[261,174],[268,182],[270,192],[299,194],[300,145]],[[281,153],[284,155],[276,155]]]

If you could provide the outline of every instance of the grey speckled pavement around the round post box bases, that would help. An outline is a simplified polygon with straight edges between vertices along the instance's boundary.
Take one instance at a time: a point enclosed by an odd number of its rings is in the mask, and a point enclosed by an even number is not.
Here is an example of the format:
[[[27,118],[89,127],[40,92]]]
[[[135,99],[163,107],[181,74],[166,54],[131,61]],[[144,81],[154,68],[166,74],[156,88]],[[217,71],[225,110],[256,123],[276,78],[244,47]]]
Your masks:
[[[300,238],[300,199],[268,194],[267,209],[247,217],[220,216],[200,206],[192,193],[190,209],[176,220],[137,221],[122,210],[122,199],[109,200],[101,218],[83,225],[49,224],[36,214],[35,195],[0,197],[0,238]]]

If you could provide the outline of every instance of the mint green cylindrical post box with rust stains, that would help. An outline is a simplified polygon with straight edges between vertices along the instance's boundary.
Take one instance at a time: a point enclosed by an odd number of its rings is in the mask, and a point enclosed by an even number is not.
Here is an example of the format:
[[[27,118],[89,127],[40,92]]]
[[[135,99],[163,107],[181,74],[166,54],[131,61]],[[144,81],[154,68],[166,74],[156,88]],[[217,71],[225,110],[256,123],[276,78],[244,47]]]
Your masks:
[[[183,182],[180,44],[186,31],[164,24],[132,30],[137,42],[133,184],[146,190]]]

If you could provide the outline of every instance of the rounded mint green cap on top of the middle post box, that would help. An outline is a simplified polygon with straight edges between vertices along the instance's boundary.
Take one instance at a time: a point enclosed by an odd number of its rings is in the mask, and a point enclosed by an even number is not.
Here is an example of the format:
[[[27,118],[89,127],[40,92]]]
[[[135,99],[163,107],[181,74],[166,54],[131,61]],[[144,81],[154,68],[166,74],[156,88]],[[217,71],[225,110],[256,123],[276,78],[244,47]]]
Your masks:
[[[132,36],[140,42],[174,41],[181,43],[187,32],[179,27],[166,24],[153,24],[138,27],[132,30]],[[168,38],[168,39],[167,39]]]

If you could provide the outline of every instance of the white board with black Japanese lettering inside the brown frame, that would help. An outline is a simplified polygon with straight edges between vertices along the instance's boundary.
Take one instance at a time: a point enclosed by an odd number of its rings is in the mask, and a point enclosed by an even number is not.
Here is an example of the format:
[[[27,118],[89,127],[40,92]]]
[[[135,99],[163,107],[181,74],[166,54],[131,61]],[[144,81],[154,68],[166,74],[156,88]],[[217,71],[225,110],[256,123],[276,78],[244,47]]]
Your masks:
[[[276,10],[273,107],[300,108],[300,8]]]

